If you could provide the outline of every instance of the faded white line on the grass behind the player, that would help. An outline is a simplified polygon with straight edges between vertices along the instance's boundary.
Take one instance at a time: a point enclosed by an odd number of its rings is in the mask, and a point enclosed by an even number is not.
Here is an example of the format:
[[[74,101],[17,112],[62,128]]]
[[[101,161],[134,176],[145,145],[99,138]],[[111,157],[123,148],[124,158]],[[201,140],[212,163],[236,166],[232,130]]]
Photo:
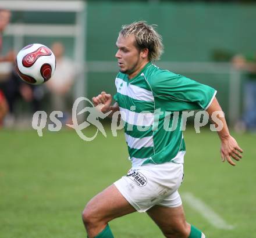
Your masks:
[[[211,225],[219,229],[234,229],[233,225],[229,225],[224,219],[216,214],[216,212],[214,212],[212,208],[208,207],[208,205],[200,199],[197,199],[197,197],[195,197],[192,193],[183,193],[182,197],[191,208],[199,212],[202,217],[204,217],[209,223],[211,223]]]

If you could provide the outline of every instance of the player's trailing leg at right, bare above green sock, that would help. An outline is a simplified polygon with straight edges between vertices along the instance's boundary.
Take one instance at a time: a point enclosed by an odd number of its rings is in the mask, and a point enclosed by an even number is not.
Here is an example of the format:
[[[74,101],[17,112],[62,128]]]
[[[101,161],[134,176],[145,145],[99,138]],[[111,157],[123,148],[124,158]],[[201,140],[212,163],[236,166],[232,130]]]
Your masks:
[[[204,234],[186,222],[183,206],[162,207],[155,205],[148,215],[168,238],[205,238]]]

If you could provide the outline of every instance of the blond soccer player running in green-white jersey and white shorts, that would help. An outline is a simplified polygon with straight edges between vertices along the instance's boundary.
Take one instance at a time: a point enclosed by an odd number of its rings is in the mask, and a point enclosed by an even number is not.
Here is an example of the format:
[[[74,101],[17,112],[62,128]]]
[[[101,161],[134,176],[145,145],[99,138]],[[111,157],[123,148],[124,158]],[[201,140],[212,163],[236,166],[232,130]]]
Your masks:
[[[176,118],[176,129],[166,130],[164,122],[169,112],[172,124],[173,111],[201,109],[209,116],[222,111],[216,91],[152,64],[161,56],[162,39],[154,26],[144,21],[123,26],[116,46],[120,68],[115,81],[116,103],[111,106],[112,96],[105,92],[94,97],[93,102],[95,106],[102,104],[102,112],[120,110],[132,167],[84,208],[87,236],[111,238],[108,222],[138,211],[147,212],[165,237],[203,238],[199,229],[186,222],[177,191],[183,180],[186,152],[180,130],[182,116]],[[225,118],[219,120],[223,123],[218,132],[222,160],[235,165],[232,158],[239,161],[242,150],[229,134]]]

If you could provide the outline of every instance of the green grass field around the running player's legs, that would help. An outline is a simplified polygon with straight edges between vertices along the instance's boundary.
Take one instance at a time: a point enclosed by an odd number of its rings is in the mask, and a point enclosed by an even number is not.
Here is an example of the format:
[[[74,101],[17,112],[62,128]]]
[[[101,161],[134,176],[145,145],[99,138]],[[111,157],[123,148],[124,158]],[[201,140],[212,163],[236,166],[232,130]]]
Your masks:
[[[93,131],[89,131],[93,133]],[[192,193],[232,230],[219,229],[183,200],[187,221],[208,238],[256,237],[256,136],[234,135],[243,161],[221,163],[214,132],[185,133],[185,178],[180,193]],[[125,175],[130,163],[122,133],[84,142],[74,131],[0,131],[0,237],[86,237],[81,211],[104,187]],[[200,150],[200,148],[202,148]],[[163,237],[147,214],[110,223],[115,237]]]

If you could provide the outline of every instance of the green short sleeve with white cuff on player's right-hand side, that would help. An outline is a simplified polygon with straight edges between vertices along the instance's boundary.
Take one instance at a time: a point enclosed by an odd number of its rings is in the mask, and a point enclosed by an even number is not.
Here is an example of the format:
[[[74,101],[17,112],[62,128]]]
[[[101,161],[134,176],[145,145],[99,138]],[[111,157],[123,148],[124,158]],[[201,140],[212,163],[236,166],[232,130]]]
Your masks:
[[[168,70],[153,73],[150,85],[154,96],[179,102],[181,110],[205,110],[216,94],[214,88]]]

